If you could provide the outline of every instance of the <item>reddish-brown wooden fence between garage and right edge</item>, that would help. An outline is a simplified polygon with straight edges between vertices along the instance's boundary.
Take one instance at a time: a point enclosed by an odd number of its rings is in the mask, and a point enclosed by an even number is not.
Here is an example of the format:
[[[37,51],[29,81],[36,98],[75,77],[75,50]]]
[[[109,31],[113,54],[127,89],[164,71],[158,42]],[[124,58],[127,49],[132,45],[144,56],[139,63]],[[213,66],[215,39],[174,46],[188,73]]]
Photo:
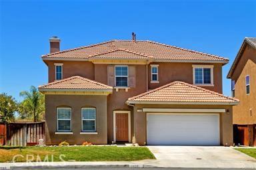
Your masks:
[[[233,125],[234,143],[236,145],[256,145],[256,124]]]

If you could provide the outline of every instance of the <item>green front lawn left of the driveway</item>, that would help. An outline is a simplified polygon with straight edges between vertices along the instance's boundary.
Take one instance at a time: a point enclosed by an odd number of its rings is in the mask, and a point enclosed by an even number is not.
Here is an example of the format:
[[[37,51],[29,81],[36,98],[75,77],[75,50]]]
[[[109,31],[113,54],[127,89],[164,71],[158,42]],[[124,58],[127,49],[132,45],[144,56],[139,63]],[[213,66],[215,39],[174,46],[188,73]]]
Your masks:
[[[0,148],[0,162],[12,162],[15,155],[20,154],[15,161],[25,162],[26,157],[33,161],[43,161],[48,156],[49,161],[136,161],[155,159],[147,147],[117,147],[117,146],[73,146],[73,147],[21,147]],[[22,157],[22,156],[23,157]],[[53,160],[52,160],[53,157]]]

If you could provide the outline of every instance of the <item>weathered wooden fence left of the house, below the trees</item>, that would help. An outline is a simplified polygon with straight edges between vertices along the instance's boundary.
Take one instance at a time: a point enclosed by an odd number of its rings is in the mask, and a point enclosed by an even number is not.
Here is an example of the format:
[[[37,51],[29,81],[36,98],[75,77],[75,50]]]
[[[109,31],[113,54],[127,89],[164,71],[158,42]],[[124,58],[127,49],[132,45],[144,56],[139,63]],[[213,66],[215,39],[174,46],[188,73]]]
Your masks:
[[[1,128],[1,126],[5,126],[5,128]],[[1,145],[36,145],[38,139],[45,140],[45,122],[9,123],[1,126],[0,134],[5,133],[5,139],[0,140]]]

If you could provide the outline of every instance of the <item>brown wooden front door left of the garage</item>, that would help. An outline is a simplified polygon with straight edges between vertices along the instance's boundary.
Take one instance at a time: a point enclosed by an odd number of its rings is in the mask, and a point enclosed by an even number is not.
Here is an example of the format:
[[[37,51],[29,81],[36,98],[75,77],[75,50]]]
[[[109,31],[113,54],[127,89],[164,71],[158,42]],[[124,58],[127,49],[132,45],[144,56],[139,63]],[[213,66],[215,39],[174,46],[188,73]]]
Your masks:
[[[128,114],[115,114],[116,141],[129,141]]]

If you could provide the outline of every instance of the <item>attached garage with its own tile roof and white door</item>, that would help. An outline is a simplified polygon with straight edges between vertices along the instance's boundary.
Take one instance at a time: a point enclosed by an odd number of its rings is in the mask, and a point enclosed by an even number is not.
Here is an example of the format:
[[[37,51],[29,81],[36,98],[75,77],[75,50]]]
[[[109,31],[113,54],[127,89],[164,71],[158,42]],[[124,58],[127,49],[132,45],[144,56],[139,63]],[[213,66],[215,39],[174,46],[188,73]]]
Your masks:
[[[233,145],[232,106],[238,100],[171,82],[127,100],[135,110],[139,145]]]

